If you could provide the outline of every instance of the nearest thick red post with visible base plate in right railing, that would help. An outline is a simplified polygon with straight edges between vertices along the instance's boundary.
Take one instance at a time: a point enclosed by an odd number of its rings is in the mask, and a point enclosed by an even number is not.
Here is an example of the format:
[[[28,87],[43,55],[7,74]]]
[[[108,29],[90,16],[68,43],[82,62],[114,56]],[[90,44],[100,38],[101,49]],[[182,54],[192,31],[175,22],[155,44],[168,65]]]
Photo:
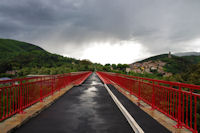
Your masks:
[[[174,126],[176,128],[182,128],[181,124],[181,85],[179,84],[179,91],[178,91],[178,121],[177,124]]]

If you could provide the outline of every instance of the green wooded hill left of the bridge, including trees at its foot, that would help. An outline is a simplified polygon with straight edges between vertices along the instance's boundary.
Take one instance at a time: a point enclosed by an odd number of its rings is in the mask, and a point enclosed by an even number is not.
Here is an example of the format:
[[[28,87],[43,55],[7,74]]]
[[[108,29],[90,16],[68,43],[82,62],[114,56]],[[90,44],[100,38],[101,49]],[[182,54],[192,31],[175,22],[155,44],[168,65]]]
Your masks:
[[[11,39],[0,39],[0,53],[0,74],[18,71],[23,76],[93,69],[90,61],[52,54],[36,45]]]

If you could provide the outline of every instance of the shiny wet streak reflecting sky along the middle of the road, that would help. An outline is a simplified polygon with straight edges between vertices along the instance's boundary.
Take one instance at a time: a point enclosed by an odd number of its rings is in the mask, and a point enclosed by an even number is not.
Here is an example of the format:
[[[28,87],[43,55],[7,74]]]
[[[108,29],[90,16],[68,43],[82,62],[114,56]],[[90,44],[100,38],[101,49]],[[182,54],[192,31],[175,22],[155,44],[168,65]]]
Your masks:
[[[89,84],[85,84],[84,89],[79,98],[79,104],[74,106],[73,113],[78,128],[80,125],[87,124],[94,131],[97,126],[101,126],[105,123],[105,120],[99,115],[100,105],[97,98],[99,97],[98,86],[103,85],[95,76],[92,76]],[[86,123],[85,123],[86,122]]]

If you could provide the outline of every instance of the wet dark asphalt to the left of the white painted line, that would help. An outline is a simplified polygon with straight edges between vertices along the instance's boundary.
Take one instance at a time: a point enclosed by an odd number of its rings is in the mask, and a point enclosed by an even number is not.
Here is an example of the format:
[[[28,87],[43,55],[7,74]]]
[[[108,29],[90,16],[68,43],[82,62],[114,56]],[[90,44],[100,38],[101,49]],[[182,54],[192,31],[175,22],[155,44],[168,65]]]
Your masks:
[[[73,87],[15,133],[132,133],[96,74]]]

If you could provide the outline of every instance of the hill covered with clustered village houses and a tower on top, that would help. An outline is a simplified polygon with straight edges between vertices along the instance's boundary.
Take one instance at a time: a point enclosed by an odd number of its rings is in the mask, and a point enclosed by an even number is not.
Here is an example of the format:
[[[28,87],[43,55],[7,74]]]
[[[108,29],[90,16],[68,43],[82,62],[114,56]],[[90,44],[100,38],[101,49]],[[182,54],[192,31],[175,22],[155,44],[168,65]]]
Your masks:
[[[163,76],[186,72],[200,62],[200,56],[182,56],[161,54],[130,65],[136,73],[158,73]]]

